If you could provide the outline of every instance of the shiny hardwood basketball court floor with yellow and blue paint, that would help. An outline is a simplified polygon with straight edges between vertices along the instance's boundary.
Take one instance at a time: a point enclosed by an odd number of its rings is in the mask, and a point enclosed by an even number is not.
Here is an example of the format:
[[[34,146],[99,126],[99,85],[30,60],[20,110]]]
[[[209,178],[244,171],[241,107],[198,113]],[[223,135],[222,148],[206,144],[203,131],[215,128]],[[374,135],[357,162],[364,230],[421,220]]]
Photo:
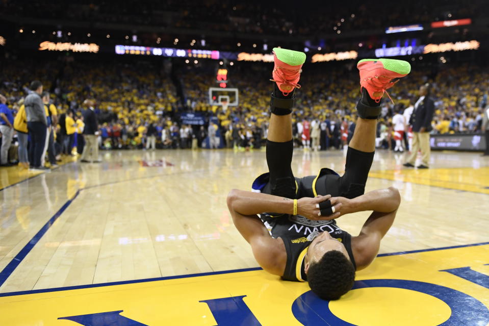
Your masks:
[[[434,152],[417,170],[377,151],[366,190],[395,186],[401,207],[380,257],[329,305],[257,268],[230,218],[228,191],[250,189],[264,151],[101,154],[40,175],[0,169],[1,325],[489,322],[489,159],[478,153]],[[343,151],[297,149],[292,165],[302,176],[344,163]],[[338,224],[355,235],[367,216]]]

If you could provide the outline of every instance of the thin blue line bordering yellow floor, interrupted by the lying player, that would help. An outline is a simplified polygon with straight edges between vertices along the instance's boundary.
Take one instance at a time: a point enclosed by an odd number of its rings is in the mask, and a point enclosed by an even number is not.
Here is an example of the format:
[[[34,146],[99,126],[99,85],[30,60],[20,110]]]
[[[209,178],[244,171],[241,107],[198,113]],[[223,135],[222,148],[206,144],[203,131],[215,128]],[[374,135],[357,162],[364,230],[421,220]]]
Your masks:
[[[473,247],[473,246],[480,246],[480,245],[486,245],[486,244],[489,244],[489,242],[461,244],[461,245],[454,245],[454,246],[449,246],[449,247],[428,248],[428,249],[410,250],[407,252],[380,254],[380,255],[377,255],[377,257],[416,254],[416,253],[431,252],[431,251],[436,251],[436,250]],[[27,290],[27,291],[17,291],[17,292],[5,292],[5,293],[0,293],[0,297],[24,295],[24,294],[35,294],[35,293],[46,293],[46,292],[56,292],[56,291],[67,291],[67,290],[78,290],[78,289],[89,289],[89,288],[104,287],[104,286],[136,284],[136,283],[175,280],[175,279],[187,279],[187,278],[202,277],[202,276],[209,276],[209,275],[231,274],[231,273],[239,273],[239,272],[255,271],[255,270],[262,270],[262,268],[261,267],[251,267],[251,268],[221,270],[221,271],[213,271],[213,272],[205,272],[205,273],[175,275],[175,276],[167,276],[167,277],[151,278],[151,279],[118,281],[118,282],[97,283],[97,284],[87,284],[87,285],[75,285],[75,286],[66,286],[66,287],[59,287],[59,288]]]

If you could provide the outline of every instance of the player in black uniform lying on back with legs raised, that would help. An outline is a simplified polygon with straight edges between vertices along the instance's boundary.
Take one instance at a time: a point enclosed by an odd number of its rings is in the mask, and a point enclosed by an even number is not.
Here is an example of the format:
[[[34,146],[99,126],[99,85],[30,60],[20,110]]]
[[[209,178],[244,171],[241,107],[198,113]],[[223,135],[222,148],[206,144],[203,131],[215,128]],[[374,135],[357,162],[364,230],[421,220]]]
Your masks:
[[[374,157],[380,99],[385,89],[409,73],[410,65],[392,59],[359,61],[359,117],[345,173],[340,177],[323,168],[316,176],[295,178],[292,107],[305,54],[274,48],[274,61],[276,85],[266,145],[270,172],[254,181],[252,192],[231,190],[227,206],[263,269],[284,280],[308,281],[319,297],[338,299],[353,286],[355,270],[367,267],[376,257],[400,204],[396,188],[364,192]],[[360,211],[373,212],[358,236],[350,236],[334,220]]]

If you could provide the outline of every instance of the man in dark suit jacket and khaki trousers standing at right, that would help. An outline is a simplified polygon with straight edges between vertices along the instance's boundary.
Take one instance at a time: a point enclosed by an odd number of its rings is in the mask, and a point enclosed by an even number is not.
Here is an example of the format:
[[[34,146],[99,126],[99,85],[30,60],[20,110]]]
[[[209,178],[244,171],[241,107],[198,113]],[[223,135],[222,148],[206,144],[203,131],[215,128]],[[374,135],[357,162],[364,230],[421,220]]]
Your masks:
[[[421,164],[418,165],[420,169],[427,169],[429,167],[430,156],[430,144],[429,144],[429,132],[431,131],[431,120],[433,120],[434,103],[431,98],[428,97],[428,84],[422,85],[419,89],[419,99],[414,106],[413,114],[409,119],[409,124],[413,126],[413,145],[411,148],[411,154],[404,163],[406,167],[414,167],[416,156],[419,149],[421,149]]]

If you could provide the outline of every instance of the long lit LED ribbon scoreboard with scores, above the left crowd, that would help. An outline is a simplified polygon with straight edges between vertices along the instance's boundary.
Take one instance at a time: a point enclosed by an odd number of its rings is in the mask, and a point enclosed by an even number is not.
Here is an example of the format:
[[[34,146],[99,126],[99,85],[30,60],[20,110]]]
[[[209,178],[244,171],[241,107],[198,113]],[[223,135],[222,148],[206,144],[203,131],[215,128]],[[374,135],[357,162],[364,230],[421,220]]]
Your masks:
[[[115,53],[119,55],[142,55],[142,56],[162,56],[162,57],[177,57],[177,58],[199,58],[199,59],[214,59],[220,58],[219,51],[212,50],[197,50],[183,49],[171,47],[151,47],[151,46],[136,46],[136,45],[116,45]]]

